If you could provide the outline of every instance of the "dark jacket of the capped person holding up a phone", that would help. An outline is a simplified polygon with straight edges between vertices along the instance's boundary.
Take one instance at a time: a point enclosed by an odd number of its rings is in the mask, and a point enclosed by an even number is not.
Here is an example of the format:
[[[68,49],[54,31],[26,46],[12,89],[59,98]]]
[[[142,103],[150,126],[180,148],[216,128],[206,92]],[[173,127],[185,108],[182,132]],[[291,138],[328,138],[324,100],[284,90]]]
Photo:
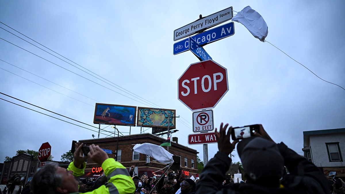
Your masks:
[[[201,173],[196,194],[329,193],[329,187],[327,185],[329,181],[318,167],[288,148],[283,142],[277,145],[284,158],[284,165],[290,172],[290,174],[283,175],[281,184],[284,188],[269,188],[249,183],[237,183],[226,187],[222,186],[221,184],[225,180],[224,172],[229,169],[231,159],[226,154],[217,152],[215,157],[210,159]]]

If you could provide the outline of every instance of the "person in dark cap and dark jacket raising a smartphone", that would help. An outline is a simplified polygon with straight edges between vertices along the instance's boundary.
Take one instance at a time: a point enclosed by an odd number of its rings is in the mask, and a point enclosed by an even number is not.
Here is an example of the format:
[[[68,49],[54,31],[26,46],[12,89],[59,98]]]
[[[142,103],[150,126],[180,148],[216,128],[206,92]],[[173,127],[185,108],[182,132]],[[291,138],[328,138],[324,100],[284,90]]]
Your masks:
[[[232,127],[226,130],[227,127],[228,124],[223,127],[221,123],[219,134],[217,128],[215,130],[219,151],[214,158],[210,159],[201,173],[197,184],[197,194],[329,193],[327,179],[323,172],[283,142],[276,144],[262,125],[258,125],[258,130],[253,133],[254,136],[244,138],[240,142],[239,140],[230,142]],[[221,183],[225,180],[225,172],[232,162],[228,156],[236,144],[247,182],[221,187]],[[284,166],[290,172],[289,174],[284,173]]]

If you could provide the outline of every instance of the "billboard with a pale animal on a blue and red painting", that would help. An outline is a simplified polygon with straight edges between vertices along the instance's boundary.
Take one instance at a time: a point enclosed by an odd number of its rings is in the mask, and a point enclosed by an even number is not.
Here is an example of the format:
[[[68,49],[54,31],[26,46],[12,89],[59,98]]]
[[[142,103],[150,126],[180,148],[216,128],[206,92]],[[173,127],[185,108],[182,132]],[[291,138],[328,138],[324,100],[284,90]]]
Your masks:
[[[94,124],[135,126],[136,106],[96,103]]]

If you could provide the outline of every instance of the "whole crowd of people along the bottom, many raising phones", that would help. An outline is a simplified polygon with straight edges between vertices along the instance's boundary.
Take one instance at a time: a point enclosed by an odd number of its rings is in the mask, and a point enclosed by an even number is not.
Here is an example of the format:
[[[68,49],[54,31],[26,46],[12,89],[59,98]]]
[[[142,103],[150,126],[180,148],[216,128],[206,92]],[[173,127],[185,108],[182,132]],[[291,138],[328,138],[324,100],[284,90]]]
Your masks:
[[[276,144],[262,125],[254,136],[230,141],[232,127],[223,123],[216,134],[218,149],[214,158],[205,166],[196,182],[181,171],[170,169],[162,177],[135,174],[109,158],[99,146],[90,145],[90,152],[83,155],[82,143],[76,143],[74,161],[67,169],[56,163],[48,163],[33,175],[30,184],[14,174],[6,182],[3,194],[245,194],[245,193],[313,193],[345,194],[345,182],[341,178],[326,177],[306,158],[298,155],[283,142]],[[217,128],[216,128],[217,132]],[[229,154],[235,149],[244,167],[245,181],[234,183],[225,172],[229,169]],[[86,167],[85,159],[100,164],[104,170],[95,181],[80,180]],[[177,173],[175,173],[177,171]]]

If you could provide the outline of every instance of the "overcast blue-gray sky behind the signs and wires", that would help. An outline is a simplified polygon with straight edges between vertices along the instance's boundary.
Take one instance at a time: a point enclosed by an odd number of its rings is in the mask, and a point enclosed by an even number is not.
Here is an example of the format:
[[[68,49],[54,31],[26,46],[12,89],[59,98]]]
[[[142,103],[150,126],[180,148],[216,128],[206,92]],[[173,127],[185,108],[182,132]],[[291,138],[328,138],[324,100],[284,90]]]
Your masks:
[[[134,2],[0,1],[0,92],[91,125],[0,94],[0,162],[18,149],[38,151],[45,142],[59,161],[72,140],[97,138],[95,103],[175,109],[179,131],[172,136],[203,160],[203,146],[187,143],[192,111],[177,99],[177,79],[199,60],[190,51],[173,55],[173,34],[199,14],[230,6],[237,12],[252,7],[267,23],[267,41],[320,78],[345,87],[345,1]],[[235,22],[233,36],[204,49],[228,73],[229,91],[213,109],[217,128],[221,122],[263,124],[273,140],[303,155],[303,131],[345,127],[345,90],[254,38],[242,24]],[[117,128],[128,135],[128,126]],[[131,134],[138,133],[140,127],[131,127]],[[217,144],[208,145],[209,158],[217,151]]]

